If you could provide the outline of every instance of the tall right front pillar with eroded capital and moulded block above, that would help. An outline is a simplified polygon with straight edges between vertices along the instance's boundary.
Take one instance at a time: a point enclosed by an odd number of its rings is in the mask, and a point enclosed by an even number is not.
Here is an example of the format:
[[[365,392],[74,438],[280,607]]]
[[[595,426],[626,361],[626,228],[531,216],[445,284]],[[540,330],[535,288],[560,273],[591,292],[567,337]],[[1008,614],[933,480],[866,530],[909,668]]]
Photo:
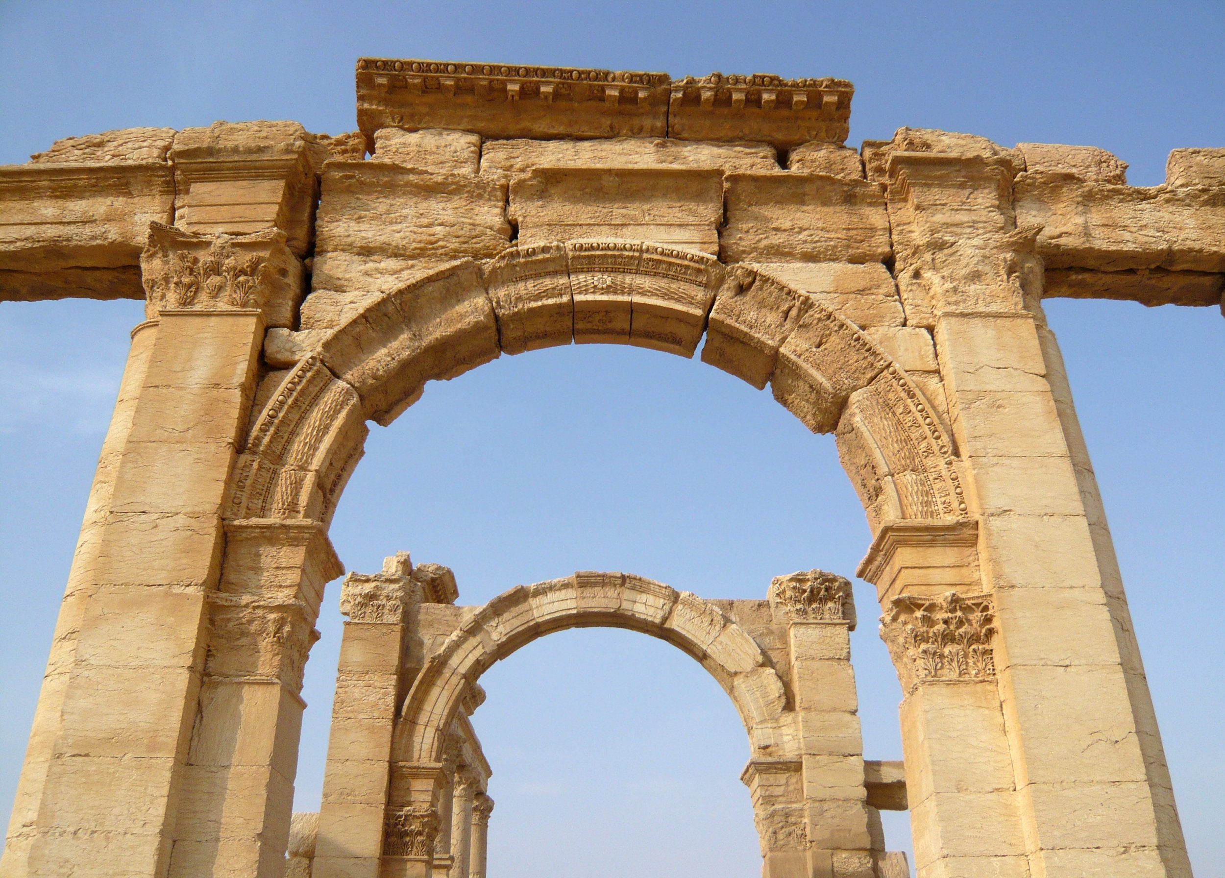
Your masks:
[[[899,291],[908,321],[932,331],[979,514],[1018,852],[1045,878],[1189,876],[1109,531],[1045,334],[1038,230],[1016,224],[1023,162],[982,138],[903,129],[870,164],[888,186]],[[959,823],[976,828],[964,798]],[[940,831],[946,851],[970,845],[952,838],[969,829]],[[1014,856],[1014,838],[979,846]]]

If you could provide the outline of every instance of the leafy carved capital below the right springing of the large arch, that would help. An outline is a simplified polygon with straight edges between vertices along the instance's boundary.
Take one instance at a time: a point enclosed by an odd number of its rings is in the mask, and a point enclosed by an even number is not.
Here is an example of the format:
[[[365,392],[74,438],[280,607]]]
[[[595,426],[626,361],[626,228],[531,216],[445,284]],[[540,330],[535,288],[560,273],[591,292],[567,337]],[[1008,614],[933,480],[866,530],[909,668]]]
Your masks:
[[[995,678],[991,595],[894,598],[881,617],[881,638],[905,692],[921,683]]]

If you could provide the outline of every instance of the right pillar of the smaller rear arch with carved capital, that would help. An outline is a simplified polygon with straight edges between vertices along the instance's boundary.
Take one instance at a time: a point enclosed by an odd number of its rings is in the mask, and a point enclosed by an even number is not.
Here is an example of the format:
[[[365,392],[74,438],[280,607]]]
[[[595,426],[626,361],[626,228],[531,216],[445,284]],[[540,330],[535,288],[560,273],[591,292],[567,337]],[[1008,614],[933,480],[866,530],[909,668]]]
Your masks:
[[[855,606],[850,583],[823,571],[777,577],[769,601],[785,622],[791,687],[802,747],[804,874],[873,878],[872,813],[864,781],[862,737],[850,636]],[[878,817],[876,818],[878,822]],[[878,828],[878,823],[877,823]],[[880,833],[876,835],[880,839]],[[883,840],[883,839],[880,839]],[[794,858],[794,857],[793,857]],[[778,861],[778,862],[775,862]],[[767,878],[793,874],[767,855]]]

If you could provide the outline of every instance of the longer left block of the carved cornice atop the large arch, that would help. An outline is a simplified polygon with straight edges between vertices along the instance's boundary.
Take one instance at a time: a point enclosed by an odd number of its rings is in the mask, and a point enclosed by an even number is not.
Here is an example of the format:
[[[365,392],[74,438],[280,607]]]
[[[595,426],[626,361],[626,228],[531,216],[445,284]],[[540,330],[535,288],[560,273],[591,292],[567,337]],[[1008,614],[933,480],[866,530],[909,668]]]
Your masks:
[[[356,75],[371,146],[385,127],[539,140],[668,132],[668,73],[361,58]]]

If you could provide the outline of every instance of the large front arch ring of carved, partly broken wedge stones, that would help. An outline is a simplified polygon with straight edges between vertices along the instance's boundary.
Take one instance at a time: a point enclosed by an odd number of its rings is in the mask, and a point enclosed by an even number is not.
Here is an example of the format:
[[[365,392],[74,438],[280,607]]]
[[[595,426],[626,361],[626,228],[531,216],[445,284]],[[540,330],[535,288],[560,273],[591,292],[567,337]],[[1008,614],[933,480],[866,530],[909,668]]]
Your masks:
[[[289,370],[255,419],[229,518],[327,522],[361,456],[428,381],[502,353],[627,343],[692,356],[833,432],[873,533],[970,512],[952,438],[905,371],[854,323],[748,266],[643,241],[511,247],[372,300]]]

